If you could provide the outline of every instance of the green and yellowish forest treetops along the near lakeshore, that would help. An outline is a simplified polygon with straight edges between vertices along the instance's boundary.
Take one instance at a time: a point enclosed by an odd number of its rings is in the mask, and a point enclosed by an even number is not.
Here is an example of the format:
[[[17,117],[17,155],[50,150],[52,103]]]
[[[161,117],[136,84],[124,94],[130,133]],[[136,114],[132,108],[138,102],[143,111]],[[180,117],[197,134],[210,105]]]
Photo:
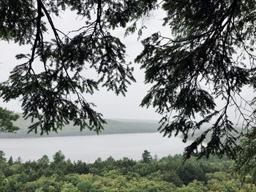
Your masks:
[[[227,158],[208,160],[181,155],[152,158],[145,150],[141,161],[112,157],[93,164],[66,160],[61,151],[50,161],[7,160],[0,152],[0,191],[85,191],[85,192],[158,192],[158,191],[256,191],[252,177],[232,173]]]

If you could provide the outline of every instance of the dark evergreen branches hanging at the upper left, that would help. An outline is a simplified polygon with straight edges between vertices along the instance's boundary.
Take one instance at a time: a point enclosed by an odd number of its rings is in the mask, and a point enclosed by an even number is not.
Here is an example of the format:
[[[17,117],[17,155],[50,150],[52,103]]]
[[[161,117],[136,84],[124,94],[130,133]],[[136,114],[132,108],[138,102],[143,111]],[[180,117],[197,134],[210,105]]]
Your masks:
[[[129,20],[146,15],[154,4],[155,0],[2,1],[0,38],[29,44],[31,53],[16,56],[25,63],[1,82],[1,98],[10,101],[22,97],[23,116],[33,121],[29,131],[37,133],[39,129],[40,134],[48,134],[73,122],[80,130],[88,127],[99,133],[105,120],[83,93],[93,94],[102,85],[116,94],[125,94],[127,85],[135,82],[133,68],[124,61],[125,46],[110,34],[110,28],[126,26]],[[59,31],[52,17],[67,8],[82,17],[85,26]],[[46,31],[53,34],[53,40],[46,40]],[[42,63],[41,72],[34,70],[36,59]],[[99,78],[83,77],[86,68],[94,70]]]

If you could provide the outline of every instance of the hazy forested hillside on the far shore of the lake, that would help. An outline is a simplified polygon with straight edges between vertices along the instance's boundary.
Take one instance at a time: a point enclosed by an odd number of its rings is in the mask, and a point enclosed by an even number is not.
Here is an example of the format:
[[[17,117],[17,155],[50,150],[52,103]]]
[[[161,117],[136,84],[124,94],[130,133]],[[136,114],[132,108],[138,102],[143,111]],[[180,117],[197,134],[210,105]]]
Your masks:
[[[20,138],[20,137],[64,137],[64,136],[82,136],[96,134],[94,131],[89,131],[88,128],[80,131],[78,126],[73,126],[72,123],[65,126],[58,133],[51,132],[49,135],[40,136],[40,132],[37,134],[29,133],[28,127],[31,125],[31,120],[24,120],[22,115],[15,122],[15,126],[18,126],[20,130],[16,133],[1,133],[0,138]],[[131,134],[131,133],[152,133],[157,132],[159,127],[157,122],[151,120],[107,120],[107,124],[104,125],[104,130],[100,134]]]

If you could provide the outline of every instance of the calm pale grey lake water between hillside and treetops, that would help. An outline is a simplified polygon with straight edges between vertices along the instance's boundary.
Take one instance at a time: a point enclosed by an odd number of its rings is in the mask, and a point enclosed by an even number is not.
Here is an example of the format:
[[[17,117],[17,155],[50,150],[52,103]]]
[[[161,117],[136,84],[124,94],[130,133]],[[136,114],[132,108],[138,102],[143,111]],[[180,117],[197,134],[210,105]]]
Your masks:
[[[109,134],[78,137],[48,137],[26,139],[0,139],[0,150],[6,157],[26,160],[37,160],[42,155],[52,155],[61,150],[66,158],[72,161],[82,160],[93,162],[97,158],[119,159],[123,157],[140,160],[143,150],[149,150],[151,155],[159,158],[166,155],[182,153],[184,144],[178,137],[162,137],[159,133],[151,134]]]

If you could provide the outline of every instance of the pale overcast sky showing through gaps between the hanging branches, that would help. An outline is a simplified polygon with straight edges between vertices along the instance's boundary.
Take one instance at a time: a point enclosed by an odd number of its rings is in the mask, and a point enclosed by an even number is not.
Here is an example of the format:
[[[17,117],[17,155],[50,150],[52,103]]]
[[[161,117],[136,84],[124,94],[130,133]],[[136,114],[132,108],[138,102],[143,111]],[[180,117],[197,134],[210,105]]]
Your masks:
[[[59,28],[61,31],[74,30],[82,25],[79,18],[76,19],[75,14],[72,12],[63,12],[60,16],[61,18],[54,19],[54,23],[56,28]],[[137,34],[124,38],[124,30],[117,29],[112,31],[127,46],[127,62],[132,61],[132,66],[135,68],[134,76],[137,82],[129,85],[125,97],[121,95],[116,96],[115,93],[107,91],[105,88],[100,88],[100,91],[94,93],[93,96],[84,94],[86,100],[88,98],[88,101],[92,101],[97,105],[97,112],[101,112],[104,118],[145,120],[159,120],[161,118],[154,109],[146,109],[139,106],[150,85],[144,84],[144,72],[140,69],[140,64],[135,64],[133,61],[135,56],[143,50],[140,40],[159,30],[162,30],[164,34],[169,33],[167,28],[162,27],[163,16],[164,12],[157,11],[153,12],[148,20],[143,20],[143,24],[147,28],[144,29],[143,37],[139,40]],[[18,53],[30,53],[30,46],[19,46],[13,42],[0,41],[0,50],[0,81],[2,82],[7,80],[10,71],[20,64],[20,61],[15,59],[15,55]],[[40,63],[37,65],[39,66]],[[18,100],[5,103],[0,99],[0,106],[14,112],[22,112],[21,103]]]

